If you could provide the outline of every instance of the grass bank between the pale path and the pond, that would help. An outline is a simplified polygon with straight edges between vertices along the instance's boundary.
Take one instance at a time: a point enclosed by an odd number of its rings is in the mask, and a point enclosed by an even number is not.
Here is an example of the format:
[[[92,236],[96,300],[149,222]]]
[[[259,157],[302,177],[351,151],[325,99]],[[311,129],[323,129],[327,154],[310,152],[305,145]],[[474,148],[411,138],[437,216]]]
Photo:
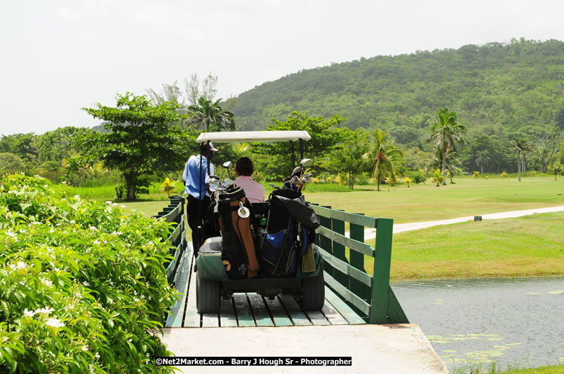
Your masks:
[[[557,212],[399,233],[390,278],[564,275],[563,222],[564,212]],[[371,258],[365,259],[371,272]]]

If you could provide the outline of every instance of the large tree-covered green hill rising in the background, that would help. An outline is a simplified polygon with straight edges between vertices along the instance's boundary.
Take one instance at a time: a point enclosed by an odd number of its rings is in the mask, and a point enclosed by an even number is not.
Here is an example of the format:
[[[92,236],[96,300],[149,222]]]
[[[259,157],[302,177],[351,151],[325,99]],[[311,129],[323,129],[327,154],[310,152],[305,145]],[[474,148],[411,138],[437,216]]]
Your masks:
[[[243,92],[234,113],[243,130],[265,129],[291,111],[338,113],[347,127],[382,128],[415,145],[444,106],[458,112],[470,134],[562,129],[555,120],[563,88],[564,42],[512,39],[302,70]]]

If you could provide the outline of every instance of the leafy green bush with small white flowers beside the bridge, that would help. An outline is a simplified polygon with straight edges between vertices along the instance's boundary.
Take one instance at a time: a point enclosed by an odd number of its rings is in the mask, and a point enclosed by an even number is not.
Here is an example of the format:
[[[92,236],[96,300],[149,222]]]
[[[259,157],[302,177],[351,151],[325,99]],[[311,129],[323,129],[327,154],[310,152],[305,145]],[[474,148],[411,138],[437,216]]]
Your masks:
[[[39,176],[0,182],[0,373],[169,373],[175,300],[168,225],[67,196]]]

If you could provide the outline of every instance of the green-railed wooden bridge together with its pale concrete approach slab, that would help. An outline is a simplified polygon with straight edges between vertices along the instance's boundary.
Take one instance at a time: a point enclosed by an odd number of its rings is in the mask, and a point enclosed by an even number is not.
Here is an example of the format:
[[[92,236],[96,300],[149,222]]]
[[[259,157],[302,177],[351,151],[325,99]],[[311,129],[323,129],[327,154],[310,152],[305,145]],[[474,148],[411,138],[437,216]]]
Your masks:
[[[194,256],[187,242],[184,200],[171,198],[161,219],[175,222],[169,240],[173,260],[166,264],[170,283],[181,293],[165,319],[162,339],[177,356],[350,356],[351,366],[323,367],[328,373],[448,374],[419,326],[409,324],[389,286],[392,220],[317,207],[321,222],[316,244],[325,272],[325,305],[300,309],[288,295],[274,300],[255,293],[234,293],[217,314],[196,311]],[[345,225],[349,224],[349,237]],[[375,246],[364,229],[376,228]],[[348,253],[347,253],[348,252]],[[347,256],[348,255],[348,256]],[[372,275],[365,271],[365,258]],[[220,328],[217,328],[220,327]],[[254,328],[239,328],[254,327]],[[222,366],[181,367],[183,373],[225,373]],[[316,367],[248,366],[246,373],[310,373]]]

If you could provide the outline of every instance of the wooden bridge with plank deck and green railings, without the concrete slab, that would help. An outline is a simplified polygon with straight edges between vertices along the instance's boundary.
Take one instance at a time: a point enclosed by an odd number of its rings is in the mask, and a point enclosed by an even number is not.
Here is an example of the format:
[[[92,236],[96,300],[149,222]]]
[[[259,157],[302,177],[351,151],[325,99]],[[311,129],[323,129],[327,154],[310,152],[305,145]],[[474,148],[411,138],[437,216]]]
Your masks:
[[[389,286],[393,221],[330,207],[313,207],[321,222],[316,244],[325,261],[325,305],[321,311],[303,311],[289,295],[269,300],[256,293],[235,293],[229,300],[222,300],[218,314],[199,314],[196,311],[196,273],[192,271],[194,256],[186,237],[184,199],[171,198],[170,205],[156,217],[176,223],[169,237],[175,247],[171,252],[174,259],[166,264],[166,272],[168,281],[182,296],[166,317],[165,327],[409,323]],[[349,223],[350,237],[344,236],[345,223]],[[365,244],[365,227],[377,229],[375,247]],[[365,256],[374,258],[372,274],[375,277],[365,271]]]

